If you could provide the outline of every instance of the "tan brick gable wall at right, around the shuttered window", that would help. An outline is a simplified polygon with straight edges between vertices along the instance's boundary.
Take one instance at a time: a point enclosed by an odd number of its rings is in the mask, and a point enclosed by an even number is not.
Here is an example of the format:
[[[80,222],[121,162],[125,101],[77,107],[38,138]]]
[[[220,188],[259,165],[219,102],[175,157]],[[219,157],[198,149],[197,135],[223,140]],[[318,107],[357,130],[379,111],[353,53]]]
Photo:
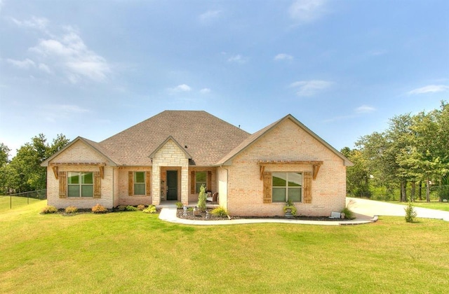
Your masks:
[[[232,160],[227,183],[227,209],[240,216],[283,216],[283,203],[264,204],[258,160],[323,160],[312,181],[312,202],[295,203],[297,214],[330,216],[345,205],[346,167],[343,160],[302,130],[284,120]],[[265,172],[311,172],[311,165],[268,165]],[[222,177],[220,176],[220,179]],[[221,196],[221,195],[220,195]],[[220,200],[222,198],[220,197]]]

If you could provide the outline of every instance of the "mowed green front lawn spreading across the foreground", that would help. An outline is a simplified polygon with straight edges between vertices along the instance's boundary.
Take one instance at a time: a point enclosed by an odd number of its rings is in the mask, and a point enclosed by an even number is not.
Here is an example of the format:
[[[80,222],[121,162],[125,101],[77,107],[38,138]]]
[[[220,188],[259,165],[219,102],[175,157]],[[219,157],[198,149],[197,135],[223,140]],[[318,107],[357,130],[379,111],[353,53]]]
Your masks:
[[[177,225],[140,211],[0,214],[1,293],[445,293],[449,223]]]

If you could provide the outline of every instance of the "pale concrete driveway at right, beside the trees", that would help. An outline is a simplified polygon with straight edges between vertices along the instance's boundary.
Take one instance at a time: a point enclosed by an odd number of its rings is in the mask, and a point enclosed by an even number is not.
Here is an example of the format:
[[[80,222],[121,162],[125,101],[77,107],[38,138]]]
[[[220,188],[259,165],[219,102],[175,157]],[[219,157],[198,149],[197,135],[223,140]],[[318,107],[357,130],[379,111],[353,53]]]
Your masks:
[[[406,211],[404,210],[406,205],[402,204],[391,204],[352,197],[346,198],[346,204],[351,211],[361,216],[406,216]],[[415,211],[417,212],[418,218],[437,218],[443,221],[449,221],[449,211],[421,207],[415,207]]]

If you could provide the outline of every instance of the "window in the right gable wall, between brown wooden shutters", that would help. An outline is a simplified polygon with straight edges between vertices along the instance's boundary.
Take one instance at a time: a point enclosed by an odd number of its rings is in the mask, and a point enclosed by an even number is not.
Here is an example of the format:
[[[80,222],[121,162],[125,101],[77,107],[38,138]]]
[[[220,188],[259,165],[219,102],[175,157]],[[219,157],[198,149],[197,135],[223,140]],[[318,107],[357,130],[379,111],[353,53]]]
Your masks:
[[[272,173],[273,202],[302,201],[302,174],[299,172]]]

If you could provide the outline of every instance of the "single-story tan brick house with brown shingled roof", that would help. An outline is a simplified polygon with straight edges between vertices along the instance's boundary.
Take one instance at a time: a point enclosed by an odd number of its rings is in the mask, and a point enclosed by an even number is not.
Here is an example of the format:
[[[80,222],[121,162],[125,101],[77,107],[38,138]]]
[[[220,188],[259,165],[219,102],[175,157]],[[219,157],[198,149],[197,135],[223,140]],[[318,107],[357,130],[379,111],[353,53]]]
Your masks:
[[[48,204],[186,205],[199,187],[239,216],[326,216],[345,205],[352,163],[291,115],[248,134],[205,111],[163,111],[100,143],[77,137],[42,163]]]

